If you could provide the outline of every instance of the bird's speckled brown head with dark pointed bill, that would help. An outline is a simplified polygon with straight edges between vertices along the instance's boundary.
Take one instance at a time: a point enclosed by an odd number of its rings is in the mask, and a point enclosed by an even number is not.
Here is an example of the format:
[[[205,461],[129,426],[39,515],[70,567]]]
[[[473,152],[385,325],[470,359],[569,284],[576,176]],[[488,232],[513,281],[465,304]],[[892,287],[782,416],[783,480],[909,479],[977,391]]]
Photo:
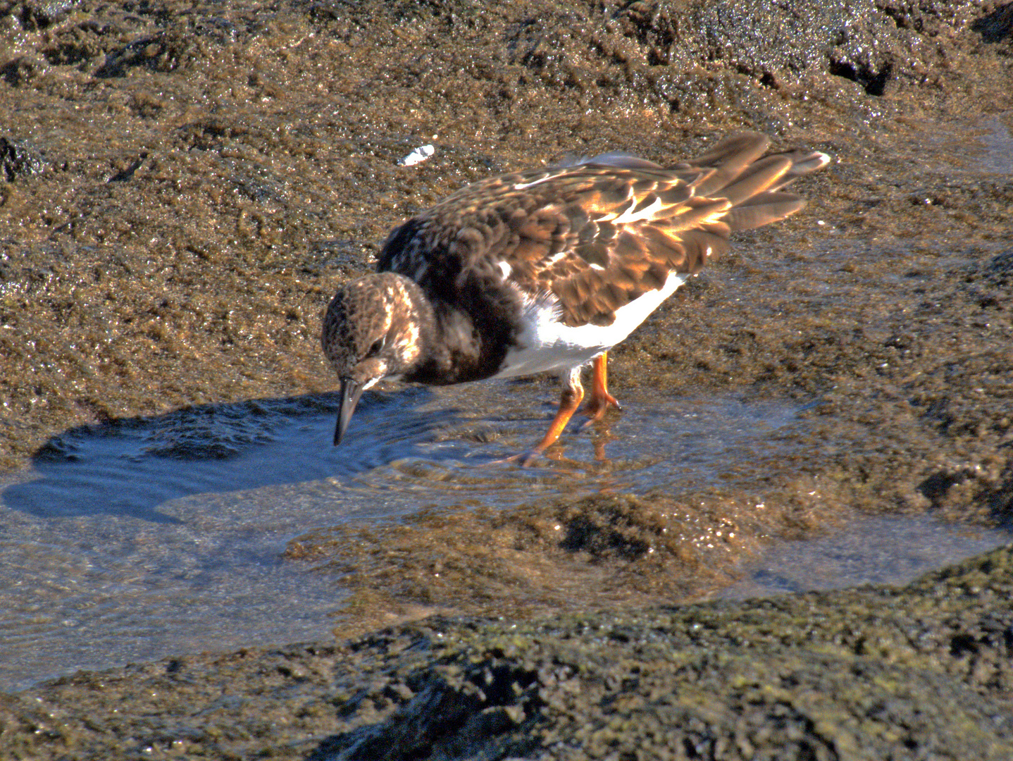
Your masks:
[[[403,375],[421,354],[418,287],[400,275],[367,275],[341,286],[327,307],[321,341],[341,381],[334,444],[344,437],[363,391]]]

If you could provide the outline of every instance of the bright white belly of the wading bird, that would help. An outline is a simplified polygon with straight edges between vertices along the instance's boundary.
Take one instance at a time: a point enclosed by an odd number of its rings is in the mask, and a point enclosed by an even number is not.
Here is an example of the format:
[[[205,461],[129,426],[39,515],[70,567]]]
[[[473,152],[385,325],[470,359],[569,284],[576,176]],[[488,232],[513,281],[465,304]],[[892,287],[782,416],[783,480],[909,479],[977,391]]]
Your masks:
[[[506,353],[495,377],[562,372],[586,365],[633,332],[633,328],[675,293],[686,278],[685,274],[672,273],[660,289],[647,291],[619,307],[611,325],[571,327],[559,321],[559,309],[554,301],[543,299],[532,303],[525,311],[525,328],[518,336],[518,344]]]

